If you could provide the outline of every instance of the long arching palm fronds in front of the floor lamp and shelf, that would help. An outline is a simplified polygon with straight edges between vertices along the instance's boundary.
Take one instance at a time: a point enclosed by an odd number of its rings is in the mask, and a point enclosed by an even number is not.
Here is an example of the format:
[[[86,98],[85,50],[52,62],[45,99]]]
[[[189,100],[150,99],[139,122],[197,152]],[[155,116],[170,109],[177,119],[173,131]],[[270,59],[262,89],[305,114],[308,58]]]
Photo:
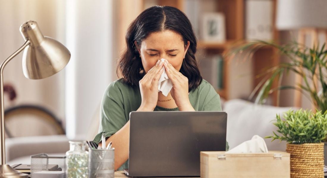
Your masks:
[[[325,44],[321,48],[308,48],[297,42],[290,42],[285,45],[278,45],[274,42],[253,41],[242,44],[236,44],[236,48],[232,48],[228,54],[245,54],[246,58],[250,58],[259,48],[270,46],[280,52],[281,55],[287,56],[288,62],[280,63],[265,70],[264,73],[257,77],[263,77],[261,82],[251,93],[253,97],[257,93],[256,103],[263,103],[269,94],[276,91],[278,96],[282,89],[295,89],[301,91],[306,97],[311,98],[313,104],[318,110],[324,113],[327,110],[327,50]],[[264,59],[263,59],[264,60]],[[302,83],[296,83],[295,86],[281,86],[281,79],[284,73],[293,72],[303,78]],[[278,81],[278,85],[273,85],[274,81]],[[259,92],[258,92],[259,91]],[[277,98],[279,103],[279,97]]]

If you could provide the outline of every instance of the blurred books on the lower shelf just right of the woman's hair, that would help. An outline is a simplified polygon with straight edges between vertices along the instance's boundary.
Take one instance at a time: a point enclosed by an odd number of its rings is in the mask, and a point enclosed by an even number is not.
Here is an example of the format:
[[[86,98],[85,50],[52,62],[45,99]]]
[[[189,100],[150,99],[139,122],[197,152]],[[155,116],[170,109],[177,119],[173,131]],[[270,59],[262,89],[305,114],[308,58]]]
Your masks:
[[[204,80],[208,81],[216,90],[223,88],[224,61],[221,55],[203,58],[199,66],[201,76]]]

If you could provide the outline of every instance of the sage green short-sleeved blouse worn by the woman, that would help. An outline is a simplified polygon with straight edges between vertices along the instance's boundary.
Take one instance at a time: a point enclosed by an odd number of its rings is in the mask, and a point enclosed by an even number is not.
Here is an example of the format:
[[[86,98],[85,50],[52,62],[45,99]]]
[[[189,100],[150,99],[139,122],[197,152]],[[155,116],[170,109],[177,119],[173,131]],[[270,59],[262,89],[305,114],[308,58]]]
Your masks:
[[[196,111],[221,111],[220,97],[215,89],[202,80],[197,89],[189,93],[189,100]],[[112,82],[104,92],[100,106],[99,133],[94,142],[99,143],[104,133],[108,138],[120,130],[128,121],[129,113],[141,105],[141,93],[138,87],[130,87],[122,79]],[[178,111],[178,108],[156,106],[154,111]],[[226,150],[229,149],[226,142]],[[128,168],[128,160],[118,169]]]

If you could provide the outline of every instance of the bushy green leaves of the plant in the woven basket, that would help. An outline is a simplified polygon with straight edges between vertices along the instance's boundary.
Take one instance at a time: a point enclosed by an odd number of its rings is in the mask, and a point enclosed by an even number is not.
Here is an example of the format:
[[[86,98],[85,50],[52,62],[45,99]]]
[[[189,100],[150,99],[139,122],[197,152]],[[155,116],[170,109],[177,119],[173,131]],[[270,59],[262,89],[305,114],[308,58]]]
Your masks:
[[[320,143],[327,135],[327,112],[321,111],[312,113],[307,110],[289,110],[284,113],[282,120],[276,115],[276,122],[273,123],[278,127],[277,133],[266,138],[285,140],[288,143]]]

